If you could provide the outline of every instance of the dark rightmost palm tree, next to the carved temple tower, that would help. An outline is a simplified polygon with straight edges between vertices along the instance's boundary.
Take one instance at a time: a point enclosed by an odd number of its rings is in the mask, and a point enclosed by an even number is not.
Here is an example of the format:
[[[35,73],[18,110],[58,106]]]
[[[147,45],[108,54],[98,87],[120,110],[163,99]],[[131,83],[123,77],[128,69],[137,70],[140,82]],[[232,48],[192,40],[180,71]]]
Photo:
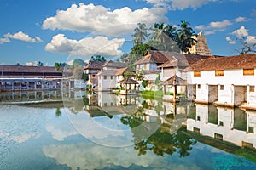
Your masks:
[[[190,53],[189,48],[196,42],[196,40],[192,38],[192,36],[195,36],[195,32],[189,25],[189,22],[183,20],[181,21],[181,24],[178,25],[180,26],[180,29],[177,30],[178,38],[176,42],[183,53]]]

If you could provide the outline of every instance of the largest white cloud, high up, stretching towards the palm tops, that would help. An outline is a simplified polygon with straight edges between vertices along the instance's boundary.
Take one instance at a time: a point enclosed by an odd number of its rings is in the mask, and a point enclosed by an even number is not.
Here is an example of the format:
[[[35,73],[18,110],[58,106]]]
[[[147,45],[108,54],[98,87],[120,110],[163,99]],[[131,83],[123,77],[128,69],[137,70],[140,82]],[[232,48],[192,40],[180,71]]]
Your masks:
[[[66,10],[59,10],[55,16],[44,20],[43,29],[60,29],[79,32],[96,32],[105,35],[119,35],[133,31],[138,22],[152,26],[154,22],[165,22],[165,8],[124,7],[111,11],[102,5],[92,3],[73,4]]]

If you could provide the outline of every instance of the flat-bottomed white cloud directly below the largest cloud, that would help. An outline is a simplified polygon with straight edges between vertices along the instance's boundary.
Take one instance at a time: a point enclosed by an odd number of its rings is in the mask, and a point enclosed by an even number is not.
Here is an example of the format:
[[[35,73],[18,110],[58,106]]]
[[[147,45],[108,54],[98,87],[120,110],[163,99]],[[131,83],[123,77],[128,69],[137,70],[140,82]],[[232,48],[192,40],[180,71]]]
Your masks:
[[[64,34],[58,34],[52,38],[44,49],[49,52],[61,54],[74,54],[81,56],[92,56],[100,54],[103,56],[116,56],[122,54],[119,48],[125,42],[125,38],[108,37],[85,37],[81,40],[73,40],[65,37]]]

